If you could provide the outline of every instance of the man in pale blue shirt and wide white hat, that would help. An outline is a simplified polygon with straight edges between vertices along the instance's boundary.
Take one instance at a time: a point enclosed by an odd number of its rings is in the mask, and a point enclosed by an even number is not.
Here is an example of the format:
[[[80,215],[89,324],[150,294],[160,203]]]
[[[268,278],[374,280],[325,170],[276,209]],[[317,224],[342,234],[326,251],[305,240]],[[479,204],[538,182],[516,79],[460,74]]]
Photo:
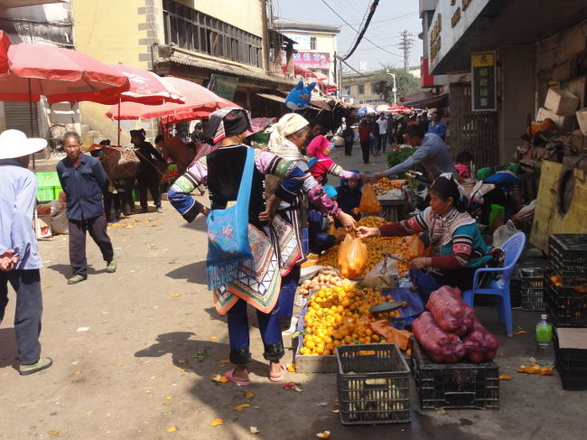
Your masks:
[[[16,292],[14,332],[23,376],[53,363],[41,357],[42,262],[32,227],[37,181],[27,170],[29,154],[45,145],[44,139],[27,139],[18,130],[0,135],[0,323],[10,283]]]

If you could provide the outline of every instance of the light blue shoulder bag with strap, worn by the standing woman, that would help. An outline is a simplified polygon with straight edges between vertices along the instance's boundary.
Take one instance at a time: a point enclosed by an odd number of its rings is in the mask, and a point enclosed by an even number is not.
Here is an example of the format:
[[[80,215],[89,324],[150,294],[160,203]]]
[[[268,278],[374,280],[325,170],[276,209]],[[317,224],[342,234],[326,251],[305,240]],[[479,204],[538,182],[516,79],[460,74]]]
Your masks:
[[[242,262],[253,259],[248,244],[248,203],[254,167],[255,153],[247,148],[237,201],[224,210],[211,210],[208,214],[206,271],[210,290],[237,279]]]

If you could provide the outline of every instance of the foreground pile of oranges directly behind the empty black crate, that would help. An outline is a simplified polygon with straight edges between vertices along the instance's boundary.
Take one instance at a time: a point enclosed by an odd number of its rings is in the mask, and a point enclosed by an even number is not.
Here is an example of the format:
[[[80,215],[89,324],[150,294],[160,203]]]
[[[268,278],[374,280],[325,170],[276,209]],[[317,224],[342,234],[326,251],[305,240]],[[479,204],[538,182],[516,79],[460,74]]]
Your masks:
[[[339,345],[387,342],[368,326],[369,308],[386,301],[378,289],[358,289],[352,284],[322,287],[308,301],[303,316],[304,336],[300,354],[329,355]],[[400,316],[399,312],[391,315]]]

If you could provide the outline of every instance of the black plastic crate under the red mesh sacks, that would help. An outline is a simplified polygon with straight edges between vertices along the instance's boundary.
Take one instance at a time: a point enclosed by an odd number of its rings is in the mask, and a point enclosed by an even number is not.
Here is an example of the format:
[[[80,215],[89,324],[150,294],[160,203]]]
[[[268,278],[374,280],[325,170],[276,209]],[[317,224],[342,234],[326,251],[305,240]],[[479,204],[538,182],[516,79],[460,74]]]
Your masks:
[[[499,366],[495,362],[440,364],[415,338],[412,362],[420,409],[499,409]]]

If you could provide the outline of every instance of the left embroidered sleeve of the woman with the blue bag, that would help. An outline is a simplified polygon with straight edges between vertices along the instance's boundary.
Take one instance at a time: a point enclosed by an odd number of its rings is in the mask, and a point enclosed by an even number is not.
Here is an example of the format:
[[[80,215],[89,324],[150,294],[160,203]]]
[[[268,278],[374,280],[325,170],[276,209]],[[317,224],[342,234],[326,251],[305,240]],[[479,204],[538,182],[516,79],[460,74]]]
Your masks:
[[[206,168],[196,162],[192,164],[187,172],[183,173],[170,188],[167,196],[169,201],[172,203],[172,207],[175,208],[182,217],[191,222],[198,214],[204,205],[200,201],[196,201],[191,197],[191,192],[196,189],[200,183],[206,181],[208,171]]]

